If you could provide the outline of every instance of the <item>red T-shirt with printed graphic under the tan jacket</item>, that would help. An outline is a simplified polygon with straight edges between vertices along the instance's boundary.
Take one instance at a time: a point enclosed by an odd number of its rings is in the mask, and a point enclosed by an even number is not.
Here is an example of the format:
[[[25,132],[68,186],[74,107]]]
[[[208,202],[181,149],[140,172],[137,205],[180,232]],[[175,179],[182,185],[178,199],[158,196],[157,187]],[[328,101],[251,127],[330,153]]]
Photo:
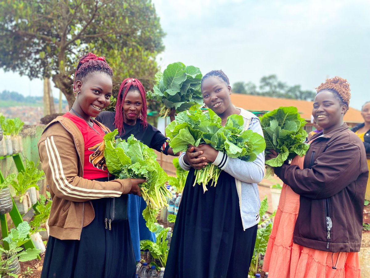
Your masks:
[[[104,130],[94,122],[92,129],[84,119],[67,112],[63,117],[70,119],[80,129],[85,142],[84,178],[98,179],[108,177],[104,158]]]

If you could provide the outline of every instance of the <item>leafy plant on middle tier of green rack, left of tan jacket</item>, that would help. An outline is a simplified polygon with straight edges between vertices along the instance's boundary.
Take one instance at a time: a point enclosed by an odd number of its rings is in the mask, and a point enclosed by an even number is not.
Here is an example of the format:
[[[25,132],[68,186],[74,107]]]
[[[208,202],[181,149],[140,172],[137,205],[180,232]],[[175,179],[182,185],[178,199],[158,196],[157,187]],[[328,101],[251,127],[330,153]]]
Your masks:
[[[19,172],[17,181],[12,181],[11,183],[20,202],[22,202],[28,188],[35,187],[38,190],[37,182],[44,179],[44,171],[38,170],[37,166],[38,163],[35,166],[32,160],[26,160],[26,171]]]

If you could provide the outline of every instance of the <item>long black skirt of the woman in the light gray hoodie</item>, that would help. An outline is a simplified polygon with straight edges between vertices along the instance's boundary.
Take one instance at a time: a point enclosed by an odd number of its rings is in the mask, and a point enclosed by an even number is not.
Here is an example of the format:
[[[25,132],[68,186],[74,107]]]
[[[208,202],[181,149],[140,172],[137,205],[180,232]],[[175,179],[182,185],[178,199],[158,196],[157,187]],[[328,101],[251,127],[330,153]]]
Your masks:
[[[208,191],[186,179],[176,217],[165,278],[247,277],[257,225],[243,231],[235,178],[221,171]]]

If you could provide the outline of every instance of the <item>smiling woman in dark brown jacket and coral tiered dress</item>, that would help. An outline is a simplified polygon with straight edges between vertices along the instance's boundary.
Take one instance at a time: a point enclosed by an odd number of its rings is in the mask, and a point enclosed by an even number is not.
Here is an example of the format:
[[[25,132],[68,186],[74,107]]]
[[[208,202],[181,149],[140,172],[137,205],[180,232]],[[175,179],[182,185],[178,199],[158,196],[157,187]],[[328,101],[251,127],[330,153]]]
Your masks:
[[[334,77],[322,83],[312,109],[322,132],[311,139],[301,168],[298,162],[274,169],[292,192],[280,197],[289,196],[280,200],[265,256],[269,277],[360,277],[369,171],[363,143],[343,123],[349,99],[347,80]],[[266,159],[277,156],[270,152]]]

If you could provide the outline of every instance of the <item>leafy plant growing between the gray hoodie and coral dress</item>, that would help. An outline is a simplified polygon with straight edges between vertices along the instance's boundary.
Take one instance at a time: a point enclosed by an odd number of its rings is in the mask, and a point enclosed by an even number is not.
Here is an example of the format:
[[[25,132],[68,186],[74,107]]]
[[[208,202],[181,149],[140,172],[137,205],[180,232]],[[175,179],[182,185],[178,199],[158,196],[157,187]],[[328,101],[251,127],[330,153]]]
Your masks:
[[[271,214],[268,218],[262,219],[262,215],[266,214],[266,211],[268,210],[268,208],[269,208],[269,205],[268,205],[267,196],[266,196],[262,200],[261,207],[259,209],[259,215],[261,216],[261,218],[260,218],[258,225],[268,222],[269,219],[275,216],[276,211],[274,211],[273,214]],[[272,223],[269,223],[268,225],[266,225],[266,227],[263,227],[257,230],[256,244],[254,248],[252,261],[250,262],[249,275],[255,275],[257,273],[258,267],[259,267],[258,257],[259,255],[266,254],[267,243],[269,241],[271,231],[272,231]]]

